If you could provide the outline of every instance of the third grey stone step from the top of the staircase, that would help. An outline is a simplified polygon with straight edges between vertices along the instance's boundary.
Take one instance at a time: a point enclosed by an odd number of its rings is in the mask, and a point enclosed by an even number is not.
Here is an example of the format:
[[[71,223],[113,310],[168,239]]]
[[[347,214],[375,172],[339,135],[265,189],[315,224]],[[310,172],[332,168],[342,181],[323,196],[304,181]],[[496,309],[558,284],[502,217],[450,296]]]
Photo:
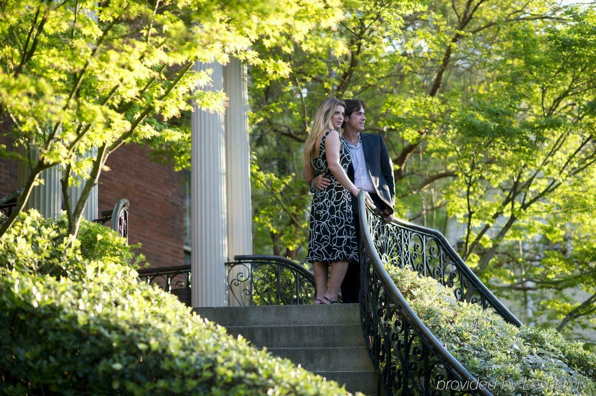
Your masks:
[[[373,372],[367,348],[267,348],[311,372]]]

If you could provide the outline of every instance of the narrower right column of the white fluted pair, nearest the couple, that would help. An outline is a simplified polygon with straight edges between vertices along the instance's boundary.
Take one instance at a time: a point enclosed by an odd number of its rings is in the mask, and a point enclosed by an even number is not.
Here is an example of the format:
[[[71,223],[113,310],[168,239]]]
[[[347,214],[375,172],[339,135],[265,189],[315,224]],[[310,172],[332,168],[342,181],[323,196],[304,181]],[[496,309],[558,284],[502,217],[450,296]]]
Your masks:
[[[228,259],[234,260],[237,254],[253,252],[247,76],[246,66],[236,59],[232,58],[224,67],[224,90],[229,99],[225,113]],[[236,266],[228,278],[246,277],[249,270]],[[232,286],[233,289],[229,290],[238,299],[241,298],[241,289],[248,286],[246,283],[240,285]],[[240,305],[237,298],[229,295],[229,305]]]

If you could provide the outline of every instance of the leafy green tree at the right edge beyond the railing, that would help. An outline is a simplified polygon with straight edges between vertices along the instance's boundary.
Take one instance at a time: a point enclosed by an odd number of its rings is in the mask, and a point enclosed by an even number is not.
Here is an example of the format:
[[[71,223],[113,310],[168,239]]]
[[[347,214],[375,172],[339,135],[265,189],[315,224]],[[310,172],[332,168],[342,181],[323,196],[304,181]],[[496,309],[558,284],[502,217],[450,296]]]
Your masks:
[[[449,138],[437,145],[457,161],[459,177],[445,199],[465,224],[462,257],[485,279],[538,300],[537,314],[559,330],[596,323],[589,232],[596,18],[593,10],[564,16],[562,25],[510,30],[491,86],[454,112],[455,150]],[[588,297],[576,303],[570,294],[579,289]]]

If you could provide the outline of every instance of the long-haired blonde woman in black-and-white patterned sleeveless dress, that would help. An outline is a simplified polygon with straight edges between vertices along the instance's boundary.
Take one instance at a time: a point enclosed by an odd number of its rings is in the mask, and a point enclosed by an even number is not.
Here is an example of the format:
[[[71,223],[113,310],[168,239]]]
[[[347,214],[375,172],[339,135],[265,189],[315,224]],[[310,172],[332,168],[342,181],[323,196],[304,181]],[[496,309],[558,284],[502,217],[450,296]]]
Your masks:
[[[331,179],[328,188],[316,191],[312,199],[308,261],[315,273],[315,304],[336,304],[347,263],[358,261],[350,196],[358,195],[358,188],[347,177],[352,158],[337,132],[343,123],[344,107],[336,98],[327,98],[319,105],[302,159],[306,180],[321,173],[330,175]],[[329,265],[331,275],[327,285]]]

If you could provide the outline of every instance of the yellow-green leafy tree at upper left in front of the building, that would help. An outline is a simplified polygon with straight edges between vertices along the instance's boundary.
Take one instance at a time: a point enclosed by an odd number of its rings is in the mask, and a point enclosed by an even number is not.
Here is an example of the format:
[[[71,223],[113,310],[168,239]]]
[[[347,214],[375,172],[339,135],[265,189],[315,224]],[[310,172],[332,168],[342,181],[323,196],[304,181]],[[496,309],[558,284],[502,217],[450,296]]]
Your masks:
[[[181,139],[167,120],[193,104],[223,111],[225,93],[203,91],[210,71],[193,71],[195,61],[225,64],[233,56],[283,73],[251,48],[254,40],[287,45],[338,18],[335,0],[2,2],[0,113],[12,120],[17,144],[39,156],[18,157],[30,162],[30,177],[0,235],[52,166],[64,169],[69,233],[76,235],[111,152],[125,142]],[[93,147],[97,155],[83,158]],[[80,179],[83,194],[70,207],[66,187]]]

